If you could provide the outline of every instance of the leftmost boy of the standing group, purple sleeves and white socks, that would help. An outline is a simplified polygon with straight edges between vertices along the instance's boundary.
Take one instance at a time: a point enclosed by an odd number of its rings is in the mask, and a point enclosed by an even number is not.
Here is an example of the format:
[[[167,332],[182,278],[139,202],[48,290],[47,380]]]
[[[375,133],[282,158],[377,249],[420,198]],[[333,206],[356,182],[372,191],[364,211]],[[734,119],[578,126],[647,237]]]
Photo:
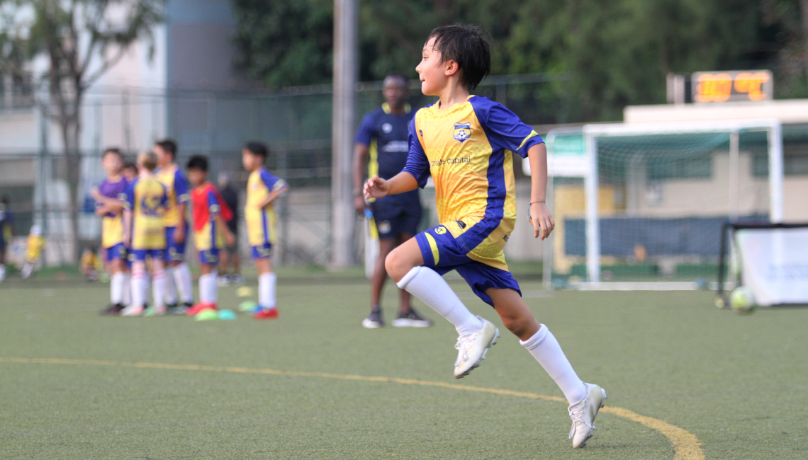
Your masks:
[[[128,182],[121,174],[124,157],[117,148],[107,148],[101,157],[107,178],[93,190],[95,214],[101,216],[101,250],[103,261],[110,273],[110,306],[102,314],[117,315],[124,309],[128,291],[128,254],[124,246],[124,202],[118,197],[126,191]]]

